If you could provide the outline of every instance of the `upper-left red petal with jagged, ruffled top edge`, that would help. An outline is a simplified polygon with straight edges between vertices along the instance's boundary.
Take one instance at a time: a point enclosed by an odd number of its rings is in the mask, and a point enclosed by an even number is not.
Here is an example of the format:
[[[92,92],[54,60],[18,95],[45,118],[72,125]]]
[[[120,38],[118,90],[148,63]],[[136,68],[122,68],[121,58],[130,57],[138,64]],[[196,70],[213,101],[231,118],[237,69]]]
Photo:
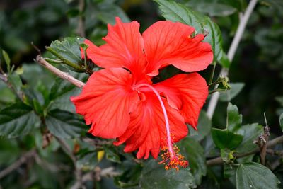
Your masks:
[[[139,23],[122,23],[116,18],[116,25],[108,24],[108,35],[103,38],[106,44],[96,47],[89,40],[87,56],[99,67],[125,67],[132,74],[145,70],[144,40],[139,33]],[[144,73],[144,72],[143,72]]]

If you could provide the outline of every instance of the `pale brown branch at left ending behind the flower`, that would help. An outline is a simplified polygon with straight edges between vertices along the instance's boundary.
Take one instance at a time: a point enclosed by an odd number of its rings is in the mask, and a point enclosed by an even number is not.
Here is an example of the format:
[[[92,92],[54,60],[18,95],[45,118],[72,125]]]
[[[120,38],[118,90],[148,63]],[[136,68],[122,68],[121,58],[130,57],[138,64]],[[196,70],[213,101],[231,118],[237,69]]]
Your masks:
[[[63,71],[57,69],[56,67],[53,67],[51,64],[49,64],[40,55],[37,55],[36,62],[40,63],[43,67],[46,67],[47,69],[49,69],[53,74],[56,74],[60,78],[69,81],[71,84],[74,84],[75,86],[77,86],[79,88],[83,88],[83,86],[85,86],[85,84],[82,81],[79,81],[78,79],[76,79],[73,76],[67,74],[66,72],[63,72]]]

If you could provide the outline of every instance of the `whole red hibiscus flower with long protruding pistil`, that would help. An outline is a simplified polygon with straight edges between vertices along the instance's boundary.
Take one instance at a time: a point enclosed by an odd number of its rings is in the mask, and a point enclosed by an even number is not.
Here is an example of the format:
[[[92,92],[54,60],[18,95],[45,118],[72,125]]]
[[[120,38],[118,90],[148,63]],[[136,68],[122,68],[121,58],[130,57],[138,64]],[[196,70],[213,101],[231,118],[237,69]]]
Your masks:
[[[141,35],[139,23],[108,25],[105,45],[86,40],[88,59],[99,67],[79,96],[72,97],[96,137],[125,143],[125,152],[138,149],[137,158],[157,159],[166,169],[187,166],[175,142],[187,136],[187,125],[197,129],[197,119],[208,95],[200,74],[178,74],[153,84],[158,70],[173,65],[185,72],[200,71],[212,62],[212,48],[192,37],[195,29],[183,23],[158,21]],[[82,52],[83,57],[83,52]]]

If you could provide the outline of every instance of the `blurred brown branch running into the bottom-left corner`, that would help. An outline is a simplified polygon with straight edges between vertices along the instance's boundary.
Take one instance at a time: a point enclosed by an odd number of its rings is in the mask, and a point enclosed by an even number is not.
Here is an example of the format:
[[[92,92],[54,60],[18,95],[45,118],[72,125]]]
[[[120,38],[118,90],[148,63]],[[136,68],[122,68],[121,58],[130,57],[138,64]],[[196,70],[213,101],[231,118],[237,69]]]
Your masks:
[[[11,166],[8,166],[7,168],[5,168],[3,171],[0,172],[0,179],[3,178],[4,176],[8,175],[12,171],[16,170],[22,164],[25,164],[25,162],[28,161],[28,159],[30,159],[30,157],[35,156],[35,154],[36,154],[35,149],[32,149],[32,150],[28,151],[27,153],[23,154],[23,156],[21,156],[20,159],[18,159],[13,164],[11,164]]]

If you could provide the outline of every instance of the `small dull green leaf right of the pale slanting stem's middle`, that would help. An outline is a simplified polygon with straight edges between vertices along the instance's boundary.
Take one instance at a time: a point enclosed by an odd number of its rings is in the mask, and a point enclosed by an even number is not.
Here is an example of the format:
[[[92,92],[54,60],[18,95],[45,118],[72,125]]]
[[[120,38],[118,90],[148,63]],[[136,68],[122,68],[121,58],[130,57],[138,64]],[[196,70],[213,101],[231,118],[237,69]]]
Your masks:
[[[223,102],[231,101],[235,96],[238,95],[245,86],[244,83],[230,83],[231,89],[226,91],[226,93],[220,93],[219,100]]]

